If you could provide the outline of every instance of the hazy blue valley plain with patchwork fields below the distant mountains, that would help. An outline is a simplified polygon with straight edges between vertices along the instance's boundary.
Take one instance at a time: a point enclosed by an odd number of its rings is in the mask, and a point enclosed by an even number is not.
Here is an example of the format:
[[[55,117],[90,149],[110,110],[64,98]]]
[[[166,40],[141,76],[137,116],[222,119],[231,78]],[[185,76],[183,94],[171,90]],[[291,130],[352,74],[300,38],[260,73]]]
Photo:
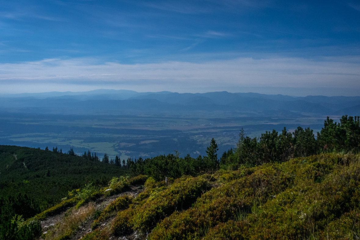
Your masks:
[[[158,115],[30,115],[3,112],[0,143],[27,147],[74,148],[77,154],[90,150],[121,159],[153,157],[179,151],[181,156],[204,155],[211,138],[219,152],[234,148],[243,127],[249,137],[284,126],[321,129],[326,116],[297,117],[255,115],[235,112],[188,111]],[[334,116],[336,119],[338,116]]]

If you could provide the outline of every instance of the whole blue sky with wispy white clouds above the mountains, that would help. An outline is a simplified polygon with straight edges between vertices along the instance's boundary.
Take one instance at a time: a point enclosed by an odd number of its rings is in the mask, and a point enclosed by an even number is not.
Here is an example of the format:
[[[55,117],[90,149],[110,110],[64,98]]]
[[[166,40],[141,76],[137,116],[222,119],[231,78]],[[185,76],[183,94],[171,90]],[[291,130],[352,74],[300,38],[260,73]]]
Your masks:
[[[0,0],[0,94],[359,96],[359,1]]]

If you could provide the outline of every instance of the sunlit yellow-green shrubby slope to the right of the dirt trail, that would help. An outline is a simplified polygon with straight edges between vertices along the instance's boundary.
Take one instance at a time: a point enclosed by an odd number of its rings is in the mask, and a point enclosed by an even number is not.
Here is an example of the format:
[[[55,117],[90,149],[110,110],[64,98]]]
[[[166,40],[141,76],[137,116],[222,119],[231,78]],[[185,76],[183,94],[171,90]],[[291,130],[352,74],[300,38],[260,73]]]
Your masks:
[[[152,240],[357,239],[359,190],[359,154],[219,170],[170,184],[148,179],[111,226],[84,239],[135,231]]]

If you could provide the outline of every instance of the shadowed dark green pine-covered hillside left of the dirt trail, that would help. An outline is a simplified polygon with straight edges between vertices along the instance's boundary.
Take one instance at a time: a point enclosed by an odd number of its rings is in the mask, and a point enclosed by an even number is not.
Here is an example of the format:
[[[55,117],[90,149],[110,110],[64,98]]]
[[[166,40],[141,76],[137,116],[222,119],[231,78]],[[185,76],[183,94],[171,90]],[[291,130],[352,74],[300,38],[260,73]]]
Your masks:
[[[59,203],[68,196],[68,191],[90,183],[97,187],[105,185],[112,177],[127,172],[125,168],[103,164],[98,158],[92,158],[90,152],[88,154],[89,157],[76,156],[72,149],[62,153],[56,148],[49,151],[0,146],[1,236],[9,227],[17,229],[14,226],[18,226],[20,220],[12,220],[15,214],[26,220]],[[51,209],[42,213],[44,217]],[[10,226],[11,221],[16,224]]]

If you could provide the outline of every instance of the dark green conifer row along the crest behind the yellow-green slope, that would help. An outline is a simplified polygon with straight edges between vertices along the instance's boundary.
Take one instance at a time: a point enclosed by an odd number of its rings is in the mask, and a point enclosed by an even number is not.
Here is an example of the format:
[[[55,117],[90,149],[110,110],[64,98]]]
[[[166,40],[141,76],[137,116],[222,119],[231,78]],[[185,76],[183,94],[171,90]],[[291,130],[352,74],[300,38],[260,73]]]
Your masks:
[[[129,161],[127,167],[134,175],[145,174],[157,180],[164,177],[197,175],[204,171],[219,168],[237,169],[239,166],[256,166],[267,162],[284,162],[290,158],[307,157],[327,152],[360,151],[360,117],[342,116],[339,123],[327,117],[324,127],[315,135],[310,128],[298,127],[293,133],[284,127],[278,131],[266,131],[260,137],[246,136],[240,130],[239,139],[234,149],[225,151],[220,159],[217,157],[217,144],[212,139],[207,147],[206,156],[192,158],[188,155],[181,158],[179,154],[161,155],[153,158]]]

